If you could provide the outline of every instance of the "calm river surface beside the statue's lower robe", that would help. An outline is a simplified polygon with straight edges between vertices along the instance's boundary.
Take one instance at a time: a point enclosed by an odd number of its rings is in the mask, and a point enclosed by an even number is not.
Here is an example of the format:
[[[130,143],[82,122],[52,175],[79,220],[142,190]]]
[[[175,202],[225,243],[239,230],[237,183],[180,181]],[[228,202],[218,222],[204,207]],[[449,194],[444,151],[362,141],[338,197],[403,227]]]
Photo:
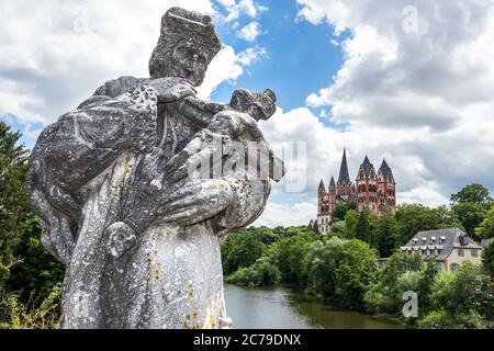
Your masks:
[[[226,310],[237,329],[396,329],[400,325],[343,312],[283,286],[246,288],[225,284]]]

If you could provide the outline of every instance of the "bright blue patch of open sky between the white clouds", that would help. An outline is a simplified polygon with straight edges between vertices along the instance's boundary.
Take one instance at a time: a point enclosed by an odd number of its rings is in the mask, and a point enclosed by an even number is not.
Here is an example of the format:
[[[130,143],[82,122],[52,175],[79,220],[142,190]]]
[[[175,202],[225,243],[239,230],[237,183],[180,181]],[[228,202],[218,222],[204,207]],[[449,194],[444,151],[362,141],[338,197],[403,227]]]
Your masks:
[[[305,104],[310,93],[327,86],[330,78],[343,64],[341,49],[330,44],[335,37],[325,25],[312,25],[296,20],[300,5],[294,1],[259,1],[269,10],[261,12],[261,31],[256,45],[266,48],[266,56],[249,67],[235,86],[250,90],[270,87],[278,93],[278,103],[287,110]],[[240,26],[247,25],[250,18],[239,19]],[[244,50],[250,43],[239,38],[237,31],[228,25],[218,27],[222,39]],[[339,38],[340,39],[340,38]],[[231,84],[224,83],[212,95],[227,101],[232,93]]]

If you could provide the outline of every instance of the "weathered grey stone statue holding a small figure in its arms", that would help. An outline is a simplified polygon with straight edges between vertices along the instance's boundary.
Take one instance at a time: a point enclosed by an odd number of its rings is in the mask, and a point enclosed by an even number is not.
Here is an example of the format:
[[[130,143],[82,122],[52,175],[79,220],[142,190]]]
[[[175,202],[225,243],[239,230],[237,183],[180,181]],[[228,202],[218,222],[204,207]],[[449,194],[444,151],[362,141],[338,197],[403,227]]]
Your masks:
[[[150,78],[108,81],[40,135],[27,192],[66,265],[64,328],[229,327],[221,240],[258,218],[284,168],[257,126],[272,91],[237,90],[228,105],[195,97],[220,48],[210,16],[172,8]],[[268,157],[238,167],[252,143]],[[207,156],[236,166],[192,177]]]

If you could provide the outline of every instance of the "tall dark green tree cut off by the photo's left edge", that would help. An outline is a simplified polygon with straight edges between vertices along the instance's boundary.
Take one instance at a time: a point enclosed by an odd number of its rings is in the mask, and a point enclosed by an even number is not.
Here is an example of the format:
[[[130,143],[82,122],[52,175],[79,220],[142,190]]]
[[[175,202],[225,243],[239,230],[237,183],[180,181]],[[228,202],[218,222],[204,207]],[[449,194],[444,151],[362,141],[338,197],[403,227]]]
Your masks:
[[[18,145],[21,134],[0,122],[0,288],[18,262],[14,250],[29,213],[24,182],[27,150]]]

